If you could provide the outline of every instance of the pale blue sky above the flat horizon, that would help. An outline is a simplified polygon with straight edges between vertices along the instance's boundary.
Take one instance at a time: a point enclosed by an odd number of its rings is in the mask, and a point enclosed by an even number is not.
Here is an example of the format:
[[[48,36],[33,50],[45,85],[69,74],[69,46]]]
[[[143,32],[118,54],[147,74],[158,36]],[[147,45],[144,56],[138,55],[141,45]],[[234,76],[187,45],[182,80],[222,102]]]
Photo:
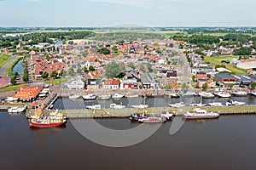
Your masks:
[[[256,26],[255,0],[0,0],[0,26]]]

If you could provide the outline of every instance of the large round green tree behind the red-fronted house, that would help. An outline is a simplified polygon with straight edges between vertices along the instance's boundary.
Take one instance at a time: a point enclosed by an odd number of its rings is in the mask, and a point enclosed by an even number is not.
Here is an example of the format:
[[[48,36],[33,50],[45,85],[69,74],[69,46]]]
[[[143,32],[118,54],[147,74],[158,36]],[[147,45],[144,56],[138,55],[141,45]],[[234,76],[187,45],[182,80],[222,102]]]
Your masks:
[[[120,65],[114,61],[106,65],[106,77],[108,78],[118,77],[122,72],[123,70],[121,69]]]

